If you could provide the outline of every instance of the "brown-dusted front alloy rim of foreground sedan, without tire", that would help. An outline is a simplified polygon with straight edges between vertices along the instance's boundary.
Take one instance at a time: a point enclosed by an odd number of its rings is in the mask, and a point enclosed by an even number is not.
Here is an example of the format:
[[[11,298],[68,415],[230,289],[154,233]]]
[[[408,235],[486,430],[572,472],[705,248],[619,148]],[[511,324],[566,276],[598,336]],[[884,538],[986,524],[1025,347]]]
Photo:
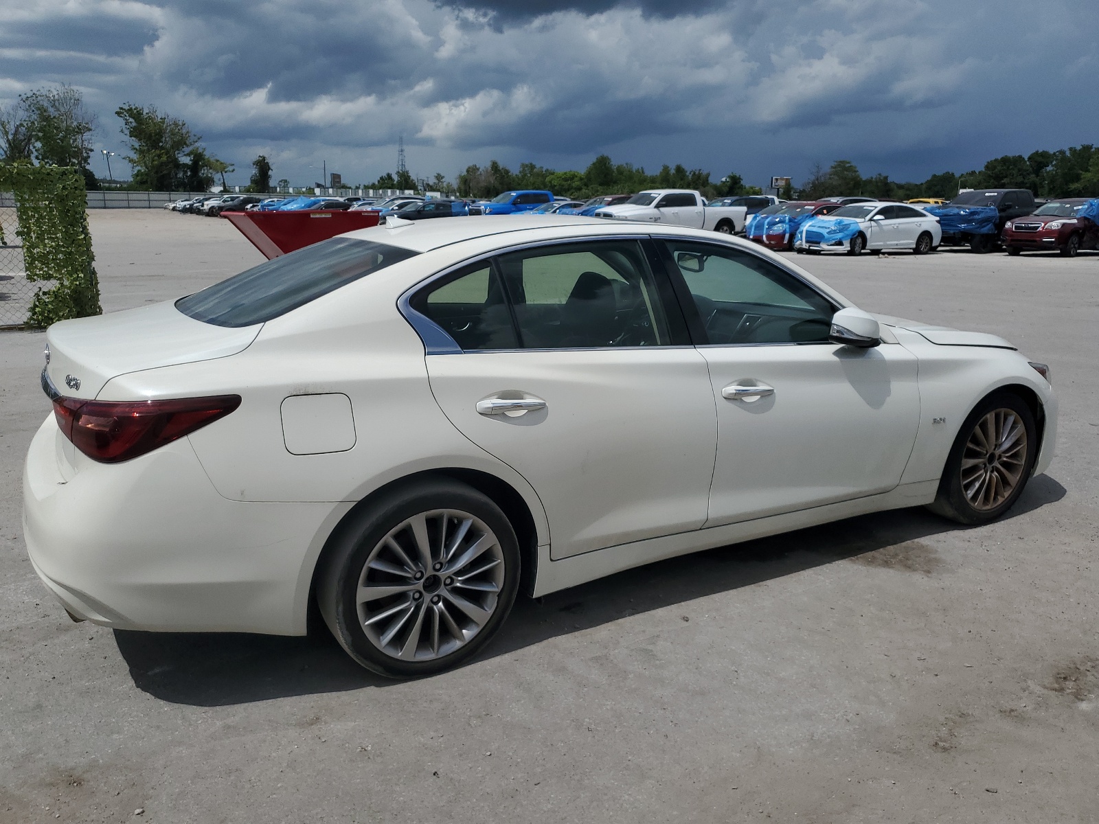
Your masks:
[[[995,409],[974,426],[962,454],[962,492],[975,510],[1002,504],[1022,480],[1026,427],[1010,409]]]

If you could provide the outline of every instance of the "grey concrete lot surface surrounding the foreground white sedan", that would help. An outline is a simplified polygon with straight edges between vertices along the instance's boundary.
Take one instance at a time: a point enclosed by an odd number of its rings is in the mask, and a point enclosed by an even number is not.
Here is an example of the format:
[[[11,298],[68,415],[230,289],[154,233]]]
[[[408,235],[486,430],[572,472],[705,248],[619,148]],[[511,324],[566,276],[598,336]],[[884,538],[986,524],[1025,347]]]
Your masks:
[[[91,227],[107,311],[262,259],[220,220]],[[323,636],[71,623],[20,526],[43,336],[0,334],[0,822],[1099,821],[1099,256],[796,259],[1052,364],[1050,472],[988,526],[870,515],[521,599],[415,682]]]

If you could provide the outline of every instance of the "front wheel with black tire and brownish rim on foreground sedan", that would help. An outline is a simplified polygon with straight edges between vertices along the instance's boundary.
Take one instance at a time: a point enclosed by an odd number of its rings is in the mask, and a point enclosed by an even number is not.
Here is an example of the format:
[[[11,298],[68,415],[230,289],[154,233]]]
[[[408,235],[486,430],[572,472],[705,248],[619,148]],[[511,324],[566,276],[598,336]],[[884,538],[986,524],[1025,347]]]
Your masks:
[[[996,442],[992,450],[986,448],[989,435]],[[1012,392],[993,392],[958,430],[929,509],[962,524],[995,521],[1025,489],[1037,445],[1030,407]]]

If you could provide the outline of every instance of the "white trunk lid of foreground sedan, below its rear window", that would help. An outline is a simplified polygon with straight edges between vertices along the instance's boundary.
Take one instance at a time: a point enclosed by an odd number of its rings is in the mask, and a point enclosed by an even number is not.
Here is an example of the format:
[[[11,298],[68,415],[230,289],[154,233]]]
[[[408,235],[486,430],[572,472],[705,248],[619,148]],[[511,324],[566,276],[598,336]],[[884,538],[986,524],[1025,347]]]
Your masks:
[[[174,301],[55,323],[46,372],[69,398],[93,399],[111,378],[243,352],[262,323],[226,329],[188,318]]]

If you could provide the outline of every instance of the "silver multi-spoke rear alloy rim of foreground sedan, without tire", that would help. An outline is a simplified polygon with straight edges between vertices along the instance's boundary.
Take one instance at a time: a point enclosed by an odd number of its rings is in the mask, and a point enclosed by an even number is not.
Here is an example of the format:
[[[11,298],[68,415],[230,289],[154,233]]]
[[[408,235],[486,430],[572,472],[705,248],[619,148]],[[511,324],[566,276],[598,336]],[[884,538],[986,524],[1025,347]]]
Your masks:
[[[480,633],[503,578],[503,549],[484,521],[459,510],[421,512],[367,556],[355,594],[358,620],[392,658],[441,658]]]

